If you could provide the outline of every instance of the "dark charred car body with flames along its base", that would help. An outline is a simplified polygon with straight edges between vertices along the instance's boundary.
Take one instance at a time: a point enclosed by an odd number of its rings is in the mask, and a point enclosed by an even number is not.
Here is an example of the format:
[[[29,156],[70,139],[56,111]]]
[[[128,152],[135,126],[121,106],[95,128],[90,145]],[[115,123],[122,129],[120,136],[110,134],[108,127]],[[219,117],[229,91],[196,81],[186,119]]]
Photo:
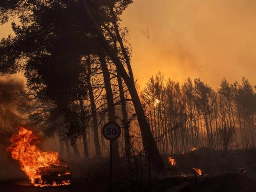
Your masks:
[[[36,178],[34,185],[38,186],[60,186],[71,184],[72,172],[66,162],[60,160],[58,165],[38,168],[41,178]]]

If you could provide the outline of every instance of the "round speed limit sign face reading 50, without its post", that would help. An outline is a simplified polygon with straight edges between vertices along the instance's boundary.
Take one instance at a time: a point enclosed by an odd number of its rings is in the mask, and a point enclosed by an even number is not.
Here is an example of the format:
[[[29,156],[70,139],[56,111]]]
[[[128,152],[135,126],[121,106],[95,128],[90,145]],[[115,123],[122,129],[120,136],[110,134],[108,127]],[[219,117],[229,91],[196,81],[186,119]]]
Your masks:
[[[120,126],[115,122],[108,122],[102,128],[102,134],[107,140],[116,140],[120,134]]]

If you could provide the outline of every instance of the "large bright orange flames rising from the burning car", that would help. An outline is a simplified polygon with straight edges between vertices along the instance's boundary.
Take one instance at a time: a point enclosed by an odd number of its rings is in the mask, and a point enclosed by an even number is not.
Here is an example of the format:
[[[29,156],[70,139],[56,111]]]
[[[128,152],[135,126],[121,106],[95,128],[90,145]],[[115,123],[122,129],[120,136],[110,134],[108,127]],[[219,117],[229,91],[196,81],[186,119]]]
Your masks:
[[[70,180],[63,180],[59,184],[56,181],[47,183],[41,178],[42,173],[40,169],[51,166],[63,167],[65,163],[58,159],[58,152],[43,152],[38,149],[35,145],[39,143],[38,136],[32,130],[27,130],[23,126],[18,128],[19,132],[11,136],[11,144],[7,150],[12,154],[12,158],[19,161],[21,170],[25,172],[30,182],[34,186],[40,187],[70,184]],[[67,172],[66,174],[70,173]]]

